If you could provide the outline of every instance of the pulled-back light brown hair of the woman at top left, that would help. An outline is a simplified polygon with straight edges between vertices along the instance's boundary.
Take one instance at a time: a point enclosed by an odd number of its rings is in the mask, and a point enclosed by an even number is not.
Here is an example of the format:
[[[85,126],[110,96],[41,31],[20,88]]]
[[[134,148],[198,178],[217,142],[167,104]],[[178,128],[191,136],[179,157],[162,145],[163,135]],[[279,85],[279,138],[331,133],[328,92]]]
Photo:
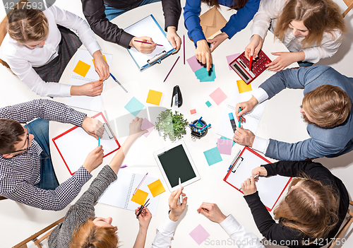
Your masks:
[[[44,40],[49,26],[44,13],[34,8],[18,8],[8,13],[8,35],[20,44]]]

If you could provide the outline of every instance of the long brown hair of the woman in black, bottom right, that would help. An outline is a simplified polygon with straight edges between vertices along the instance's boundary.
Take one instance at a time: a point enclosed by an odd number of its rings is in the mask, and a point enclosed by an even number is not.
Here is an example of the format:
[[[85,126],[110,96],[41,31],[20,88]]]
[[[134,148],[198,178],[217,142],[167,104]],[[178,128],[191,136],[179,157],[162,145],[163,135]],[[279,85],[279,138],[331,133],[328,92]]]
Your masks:
[[[298,182],[299,187],[290,189]],[[339,200],[337,192],[329,186],[323,186],[314,179],[292,179],[285,199],[275,208],[275,219],[289,227],[304,232],[310,243],[325,238],[338,223]]]

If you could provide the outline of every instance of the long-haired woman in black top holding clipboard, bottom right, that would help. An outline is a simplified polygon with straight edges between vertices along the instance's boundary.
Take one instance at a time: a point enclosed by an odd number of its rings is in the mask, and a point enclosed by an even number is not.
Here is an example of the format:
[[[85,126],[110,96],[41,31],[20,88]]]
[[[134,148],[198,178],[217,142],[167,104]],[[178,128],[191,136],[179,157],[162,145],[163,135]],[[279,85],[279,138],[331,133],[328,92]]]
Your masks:
[[[287,247],[322,247],[335,237],[345,220],[349,195],[330,170],[312,161],[280,161],[256,167],[252,175],[260,180],[274,175],[296,177],[273,211],[279,223],[261,202],[253,176],[241,184],[256,226],[267,240]]]

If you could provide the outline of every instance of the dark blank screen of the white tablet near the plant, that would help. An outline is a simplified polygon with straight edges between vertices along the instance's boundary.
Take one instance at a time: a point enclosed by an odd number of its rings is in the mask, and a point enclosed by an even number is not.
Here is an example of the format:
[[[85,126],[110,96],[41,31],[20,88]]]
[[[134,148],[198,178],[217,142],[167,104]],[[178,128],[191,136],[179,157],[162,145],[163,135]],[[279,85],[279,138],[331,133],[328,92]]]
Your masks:
[[[179,184],[179,177],[181,183],[196,177],[182,145],[158,154],[158,159],[172,187],[176,187]]]

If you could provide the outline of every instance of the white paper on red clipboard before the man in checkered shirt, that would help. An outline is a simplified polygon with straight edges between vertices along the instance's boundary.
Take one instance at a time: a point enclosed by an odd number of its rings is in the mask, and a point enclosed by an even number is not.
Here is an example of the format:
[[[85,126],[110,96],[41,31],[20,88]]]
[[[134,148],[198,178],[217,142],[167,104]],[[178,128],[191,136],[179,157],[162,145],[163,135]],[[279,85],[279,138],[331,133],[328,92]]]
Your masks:
[[[104,123],[102,115],[98,115],[95,119]],[[97,148],[98,140],[87,134],[86,131],[78,127],[73,131],[69,131],[60,138],[56,138],[54,143],[59,148],[61,155],[64,157],[66,165],[71,173],[76,172],[78,168],[83,165],[88,153]],[[111,153],[113,150],[119,148],[115,139],[110,139],[107,131],[104,131],[100,144],[103,146],[104,155]]]

